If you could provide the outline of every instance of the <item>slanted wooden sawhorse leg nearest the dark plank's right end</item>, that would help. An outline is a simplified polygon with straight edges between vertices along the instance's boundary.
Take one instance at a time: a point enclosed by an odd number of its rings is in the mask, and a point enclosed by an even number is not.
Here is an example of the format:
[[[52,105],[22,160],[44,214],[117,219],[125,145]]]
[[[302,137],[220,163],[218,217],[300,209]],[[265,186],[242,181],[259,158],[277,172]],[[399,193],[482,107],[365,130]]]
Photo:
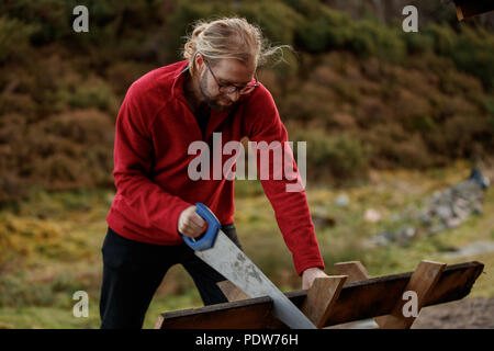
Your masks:
[[[417,269],[412,274],[406,287],[405,292],[414,292],[417,296],[417,312],[420,312],[424,303],[427,298],[429,292],[434,290],[436,283],[439,281],[439,278],[442,271],[446,268],[446,263],[433,262],[423,260],[418,263]],[[396,305],[389,316],[385,317],[384,320],[380,320],[380,327],[383,329],[409,329],[413,322],[415,321],[414,316],[405,317],[403,314],[403,306],[406,301],[402,297],[397,299]]]

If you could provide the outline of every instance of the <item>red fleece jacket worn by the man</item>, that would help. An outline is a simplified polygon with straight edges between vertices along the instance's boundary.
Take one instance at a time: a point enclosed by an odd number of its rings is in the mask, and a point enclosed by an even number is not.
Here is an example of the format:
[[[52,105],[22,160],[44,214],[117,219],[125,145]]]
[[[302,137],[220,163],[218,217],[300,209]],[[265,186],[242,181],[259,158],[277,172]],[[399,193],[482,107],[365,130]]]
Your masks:
[[[155,69],[135,81],[120,109],[114,144],[116,195],[108,225],[121,236],[155,245],[179,245],[180,213],[195,202],[211,208],[222,225],[234,222],[234,181],[189,178],[188,155],[194,140],[203,140],[198,122],[183,95],[187,61]],[[248,137],[251,141],[287,141],[271,93],[260,84],[240,95],[237,109],[211,111],[205,139],[213,132],[222,145]],[[211,152],[212,154],[212,152]],[[223,156],[223,161],[232,156]],[[247,159],[247,157],[246,157]],[[212,167],[211,167],[212,169]],[[294,163],[294,170],[297,171]],[[287,192],[287,180],[261,180],[299,275],[307,268],[324,269],[305,192]]]

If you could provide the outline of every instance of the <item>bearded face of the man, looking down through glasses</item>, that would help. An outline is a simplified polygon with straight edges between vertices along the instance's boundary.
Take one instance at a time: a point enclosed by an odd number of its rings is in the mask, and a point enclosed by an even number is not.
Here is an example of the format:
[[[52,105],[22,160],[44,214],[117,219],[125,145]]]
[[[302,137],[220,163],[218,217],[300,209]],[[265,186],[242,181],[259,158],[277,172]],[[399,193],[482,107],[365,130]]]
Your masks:
[[[199,78],[199,88],[206,101],[207,105],[215,111],[225,111],[233,106],[240,97],[238,91],[233,93],[220,92],[220,86],[216,83],[216,77],[220,83],[245,86],[250,82],[254,77],[255,68],[252,65],[246,65],[236,59],[222,59],[215,65],[210,65],[210,69],[205,61],[202,63],[202,71]]]

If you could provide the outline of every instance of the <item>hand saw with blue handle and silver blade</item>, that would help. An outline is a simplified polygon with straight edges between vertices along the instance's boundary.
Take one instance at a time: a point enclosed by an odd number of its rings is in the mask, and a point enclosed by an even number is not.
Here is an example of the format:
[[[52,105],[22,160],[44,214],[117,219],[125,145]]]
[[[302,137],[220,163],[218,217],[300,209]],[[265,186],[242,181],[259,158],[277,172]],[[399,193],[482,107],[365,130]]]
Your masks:
[[[316,329],[314,324],[221,230],[221,224],[211,210],[202,203],[197,203],[195,206],[197,213],[207,222],[207,230],[199,240],[182,236],[195,256],[250,297],[271,297],[273,315],[290,328]]]

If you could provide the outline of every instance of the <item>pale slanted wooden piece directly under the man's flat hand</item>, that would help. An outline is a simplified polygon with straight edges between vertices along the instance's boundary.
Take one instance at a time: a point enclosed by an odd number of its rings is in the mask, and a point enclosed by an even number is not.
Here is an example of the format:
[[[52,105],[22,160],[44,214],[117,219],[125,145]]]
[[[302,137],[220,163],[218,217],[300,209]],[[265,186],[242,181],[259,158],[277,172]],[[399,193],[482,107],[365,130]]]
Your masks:
[[[317,328],[323,328],[329,318],[347,278],[347,275],[318,278],[308,290],[301,310]]]

